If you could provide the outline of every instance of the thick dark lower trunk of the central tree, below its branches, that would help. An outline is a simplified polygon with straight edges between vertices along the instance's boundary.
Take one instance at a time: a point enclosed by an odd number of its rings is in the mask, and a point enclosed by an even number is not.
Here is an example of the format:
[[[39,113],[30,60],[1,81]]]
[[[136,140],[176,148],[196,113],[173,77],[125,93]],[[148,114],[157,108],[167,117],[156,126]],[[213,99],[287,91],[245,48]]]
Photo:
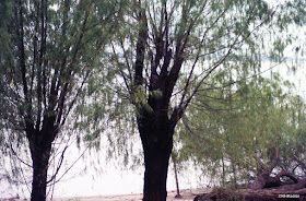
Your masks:
[[[167,172],[174,129],[170,129],[168,120],[156,123],[154,117],[151,116],[140,121],[139,130],[145,165],[143,201],[166,201]]]

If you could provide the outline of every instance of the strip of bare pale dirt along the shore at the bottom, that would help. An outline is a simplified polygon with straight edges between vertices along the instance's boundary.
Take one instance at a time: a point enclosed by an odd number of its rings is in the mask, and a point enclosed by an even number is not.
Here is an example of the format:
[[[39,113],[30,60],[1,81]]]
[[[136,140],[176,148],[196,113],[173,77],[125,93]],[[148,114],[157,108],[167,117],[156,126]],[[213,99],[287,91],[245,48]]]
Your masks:
[[[180,190],[181,198],[175,198],[176,191],[168,191],[167,201],[193,201],[199,193],[209,192],[209,189]],[[141,201],[142,194],[116,194],[99,197],[55,198],[52,201]],[[28,200],[28,199],[27,199]],[[26,199],[0,199],[0,201],[26,201]],[[48,199],[48,201],[50,201]]]

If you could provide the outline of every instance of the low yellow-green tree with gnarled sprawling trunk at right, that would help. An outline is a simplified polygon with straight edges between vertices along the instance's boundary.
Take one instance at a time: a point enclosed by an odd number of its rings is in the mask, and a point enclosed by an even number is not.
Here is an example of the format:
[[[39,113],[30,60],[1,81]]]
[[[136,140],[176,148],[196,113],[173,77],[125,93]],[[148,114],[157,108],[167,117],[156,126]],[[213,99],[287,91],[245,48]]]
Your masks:
[[[232,188],[195,200],[305,196],[305,172],[297,159],[304,157],[305,102],[293,91],[291,83],[271,73],[270,79],[257,75],[224,92],[197,95],[198,104],[184,117],[187,131],[180,133],[181,153],[208,169],[216,184],[221,180],[223,187]],[[199,107],[202,103],[205,107]],[[248,186],[250,190],[239,190]]]

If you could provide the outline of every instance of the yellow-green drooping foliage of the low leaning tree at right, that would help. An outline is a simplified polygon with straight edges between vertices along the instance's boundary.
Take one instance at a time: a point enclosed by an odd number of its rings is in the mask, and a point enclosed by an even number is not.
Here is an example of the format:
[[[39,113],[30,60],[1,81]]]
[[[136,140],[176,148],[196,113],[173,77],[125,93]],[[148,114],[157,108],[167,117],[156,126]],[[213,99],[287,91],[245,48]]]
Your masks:
[[[295,139],[303,138],[306,119],[305,104],[289,93],[291,88],[278,74],[272,80],[249,79],[224,91],[203,88],[186,113],[186,129],[179,132],[181,161],[193,158],[223,184],[248,181],[258,170],[254,154],[269,164],[275,147],[283,157],[279,165],[291,164],[292,168],[295,162],[287,150],[296,151],[305,142]]]

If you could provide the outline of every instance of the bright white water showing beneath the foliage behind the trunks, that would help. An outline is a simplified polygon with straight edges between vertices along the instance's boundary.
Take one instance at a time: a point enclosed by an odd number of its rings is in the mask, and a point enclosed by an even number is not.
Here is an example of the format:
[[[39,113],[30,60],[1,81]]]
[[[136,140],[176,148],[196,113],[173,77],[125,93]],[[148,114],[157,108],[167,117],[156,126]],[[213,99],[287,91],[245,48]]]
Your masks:
[[[140,146],[140,139],[137,138],[134,146]],[[76,146],[71,146],[66,153],[64,164],[59,172],[59,176],[72,164],[80,155]],[[104,156],[103,156],[104,155]],[[89,155],[87,155],[89,156]],[[101,158],[101,165],[96,165],[98,173],[95,172],[91,161],[96,157],[105,157],[102,151],[99,155],[91,154],[91,158],[80,159],[71,170],[55,186],[54,197],[84,197],[84,196],[106,196],[106,194],[129,194],[141,193],[143,189],[144,167],[140,166],[136,170],[129,170],[120,167],[115,159],[106,162]],[[86,166],[86,172],[83,172]],[[201,187],[204,181],[200,181],[197,172],[190,165],[189,170],[179,173],[179,186],[181,189],[191,189]],[[199,172],[198,172],[199,173]],[[16,190],[7,182],[0,182],[0,198],[15,197],[30,198],[30,192],[25,186]],[[173,164],[169,165],[167,190],[175,190],[175,177]],[[50,194],[49,194],[50,197]]]

